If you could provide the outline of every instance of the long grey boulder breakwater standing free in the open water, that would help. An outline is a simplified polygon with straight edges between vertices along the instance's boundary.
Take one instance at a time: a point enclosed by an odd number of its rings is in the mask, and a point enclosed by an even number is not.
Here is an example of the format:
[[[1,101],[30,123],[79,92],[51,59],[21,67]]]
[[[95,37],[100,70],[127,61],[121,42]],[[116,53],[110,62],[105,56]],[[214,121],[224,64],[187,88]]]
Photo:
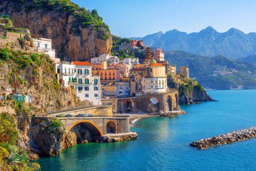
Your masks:
[[[190,144],[192,147],[198,149],[207,149],[212,146],[228,144],[232,142],[238,142],[245,139],[250,139],[256,136],[256,127],[237,130],[230,133],[222,134],[219,136],[213,136],[212,138],[200,139]]]

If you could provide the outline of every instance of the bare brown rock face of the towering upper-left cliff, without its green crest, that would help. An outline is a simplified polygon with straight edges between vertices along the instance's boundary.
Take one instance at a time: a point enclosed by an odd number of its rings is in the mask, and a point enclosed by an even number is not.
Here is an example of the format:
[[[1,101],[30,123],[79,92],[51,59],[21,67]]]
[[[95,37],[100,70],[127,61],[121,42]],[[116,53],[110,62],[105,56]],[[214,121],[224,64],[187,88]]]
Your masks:
[[[15,27],[25,27],[42,38],[52,39],[52,48],[62,60],[86,61],[102,53],[111,53],[112,38],[103,26],[94,29],[94,25],[83,27],[77,24],[73,14],[60,10],[49,10],[44,6],[27,11],[33,1],[0,2],[0,13],[8,14]],[[18,9],[15,6],[20,5]],[[74,25],[76,25],[74,27]],[[101,30],[101,31],[99,31]],[[100,38],[105,32],[108,38]]]

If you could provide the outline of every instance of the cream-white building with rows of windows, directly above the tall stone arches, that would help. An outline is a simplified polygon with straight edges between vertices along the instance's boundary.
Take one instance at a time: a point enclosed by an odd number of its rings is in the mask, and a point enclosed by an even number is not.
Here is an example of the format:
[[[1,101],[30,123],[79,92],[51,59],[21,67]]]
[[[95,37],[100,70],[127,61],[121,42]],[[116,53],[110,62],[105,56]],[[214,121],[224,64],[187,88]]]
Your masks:
[[[143,93],[162,93],[167,90],[166,77],[149,77],[143,78]]]

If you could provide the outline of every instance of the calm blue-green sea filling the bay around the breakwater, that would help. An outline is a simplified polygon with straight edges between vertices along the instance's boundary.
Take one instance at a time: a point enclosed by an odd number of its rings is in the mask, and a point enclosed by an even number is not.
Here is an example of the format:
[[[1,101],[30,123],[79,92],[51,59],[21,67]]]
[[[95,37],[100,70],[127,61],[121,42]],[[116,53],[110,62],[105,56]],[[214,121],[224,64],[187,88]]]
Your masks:
[[[256,170],[256,138],[207,150],[193,140],[256,126],[256,90],[208,91],[219,102],[182,105],[187,114],[136,122],[137,140],[65,149],[40,158],[42,171]]]

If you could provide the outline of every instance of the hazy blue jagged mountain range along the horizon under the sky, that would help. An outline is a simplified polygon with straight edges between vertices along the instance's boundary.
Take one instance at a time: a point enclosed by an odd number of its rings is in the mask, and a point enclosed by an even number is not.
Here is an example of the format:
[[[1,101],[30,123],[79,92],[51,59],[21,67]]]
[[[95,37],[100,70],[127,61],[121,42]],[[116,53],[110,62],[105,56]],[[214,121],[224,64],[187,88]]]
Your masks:
[[[220,33],[209,26],[190,34],[174,29],[130,39],[143,40],[144,45],[161,47],[165,51],[183,50],[206,56],[224,55],[235,59],[256,54],[256,33],[245,34],[235,28]]]

